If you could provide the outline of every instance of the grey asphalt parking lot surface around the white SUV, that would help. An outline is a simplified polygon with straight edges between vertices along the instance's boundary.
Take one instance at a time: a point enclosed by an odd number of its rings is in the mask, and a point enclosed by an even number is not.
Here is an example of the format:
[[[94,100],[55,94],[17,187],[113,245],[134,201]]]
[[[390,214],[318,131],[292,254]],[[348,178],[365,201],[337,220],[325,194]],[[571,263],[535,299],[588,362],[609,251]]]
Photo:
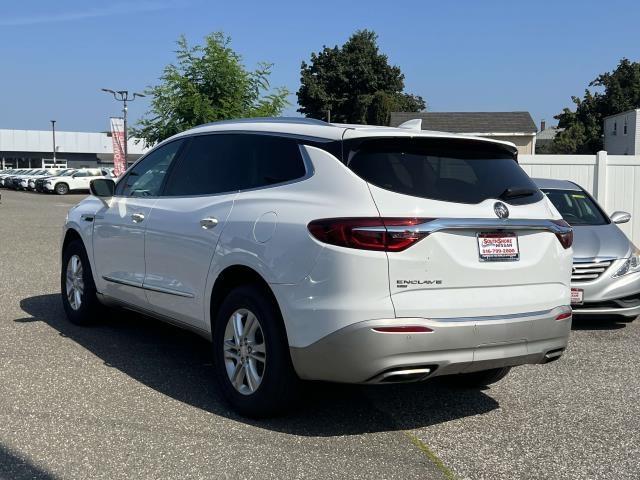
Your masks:
[[[640,478],[640,322],[485,391],[309,385],[267,422],[221,402],[208,345],[131,313],[79,328],[58,295],[81,196],[1,191],[0,479]]]

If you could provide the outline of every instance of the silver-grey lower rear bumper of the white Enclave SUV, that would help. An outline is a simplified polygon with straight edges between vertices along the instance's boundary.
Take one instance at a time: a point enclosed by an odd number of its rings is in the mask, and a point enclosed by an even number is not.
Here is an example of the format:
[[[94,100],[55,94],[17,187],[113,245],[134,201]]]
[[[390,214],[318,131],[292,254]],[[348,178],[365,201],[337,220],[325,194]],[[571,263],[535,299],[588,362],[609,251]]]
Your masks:
[[[506,366],[547,363],[567,346],[568,311],[478,318],[394,318],[349,325],[303,348],[292,347],[298,375],[308,380],[380,383],[396,371],[421,379]],[[380,333],[379,327],[423,326],[429,333]]]

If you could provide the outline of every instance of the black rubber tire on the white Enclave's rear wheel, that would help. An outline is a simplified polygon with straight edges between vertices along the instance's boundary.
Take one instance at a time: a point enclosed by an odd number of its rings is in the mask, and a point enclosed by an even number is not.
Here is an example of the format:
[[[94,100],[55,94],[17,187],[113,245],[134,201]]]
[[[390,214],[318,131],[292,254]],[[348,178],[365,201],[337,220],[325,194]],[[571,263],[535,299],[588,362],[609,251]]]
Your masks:
[[[238,310],[248,310],[258,320],[266,357],[259,386],[247,394],[240,393],[233,386],[225,363],[225,331],[229,319]],[[239,414],[264,418],[283,413],[292,406],[298,396],[299,380],[291,363],[289,344],[279,308],[264,288],[245,285],[227,295],[213,325],[212,347],[218,386],[225,400]],[[238,361],[229,361],[238,365]],[[246,373],[243,378],[246,378]],[[248,379],[246,381],[248,384]]]

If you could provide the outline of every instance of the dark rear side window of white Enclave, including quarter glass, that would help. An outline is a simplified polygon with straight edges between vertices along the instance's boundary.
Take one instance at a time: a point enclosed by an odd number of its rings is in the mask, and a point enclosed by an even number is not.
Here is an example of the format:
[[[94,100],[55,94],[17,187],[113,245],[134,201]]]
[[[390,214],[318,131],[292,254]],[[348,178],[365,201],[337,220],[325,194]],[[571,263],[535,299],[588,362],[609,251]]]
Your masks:
[[[191,138],[165,195],[210,195],[287,182],[305,175],[295,140],[268,135]]]

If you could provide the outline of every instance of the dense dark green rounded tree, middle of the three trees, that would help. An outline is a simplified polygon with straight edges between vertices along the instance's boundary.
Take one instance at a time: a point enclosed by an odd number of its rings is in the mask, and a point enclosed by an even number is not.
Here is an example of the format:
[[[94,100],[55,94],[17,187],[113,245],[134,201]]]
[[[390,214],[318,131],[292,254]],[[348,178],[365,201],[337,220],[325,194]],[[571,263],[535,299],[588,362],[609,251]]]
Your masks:
[[[302,62],[298,111],[307,117],[344,123],[386,125],[392,111],[419,112],[422,97],[404,93],[404,75],[389,65],[377,35],[359,30],[342,46],[324,47]]]

